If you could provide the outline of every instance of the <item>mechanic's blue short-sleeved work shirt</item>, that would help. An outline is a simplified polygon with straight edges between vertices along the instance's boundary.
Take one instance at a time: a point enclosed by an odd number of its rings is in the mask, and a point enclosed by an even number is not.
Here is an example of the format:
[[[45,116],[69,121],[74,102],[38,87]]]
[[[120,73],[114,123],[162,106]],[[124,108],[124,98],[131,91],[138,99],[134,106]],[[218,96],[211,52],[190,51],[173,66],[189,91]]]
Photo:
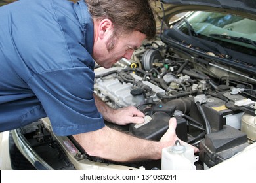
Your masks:
[[[93,98],[93,36],[84,1],[0,7],[0,131],[46,116],[60,136],[104,127]]]

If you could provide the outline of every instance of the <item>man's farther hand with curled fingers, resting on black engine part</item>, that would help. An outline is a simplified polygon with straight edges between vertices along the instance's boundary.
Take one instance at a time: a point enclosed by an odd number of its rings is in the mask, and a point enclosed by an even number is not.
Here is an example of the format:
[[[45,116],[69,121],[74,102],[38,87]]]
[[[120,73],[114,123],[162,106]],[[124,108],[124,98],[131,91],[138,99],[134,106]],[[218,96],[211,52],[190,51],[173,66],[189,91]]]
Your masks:
[[[134,106],[118,108],[114,110],[112,122],[118,125],[142,124],[144,114]]]

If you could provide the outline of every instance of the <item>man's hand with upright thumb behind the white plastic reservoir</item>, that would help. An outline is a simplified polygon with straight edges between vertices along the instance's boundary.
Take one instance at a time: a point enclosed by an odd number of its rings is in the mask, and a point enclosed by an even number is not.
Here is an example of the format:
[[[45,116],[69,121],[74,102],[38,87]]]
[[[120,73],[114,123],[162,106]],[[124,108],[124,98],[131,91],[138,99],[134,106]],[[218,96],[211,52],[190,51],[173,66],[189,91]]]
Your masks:
[[[169,129],[166,131],[166,133],[163,135],[163,137],[161,137],[160,142],[163,143],[167,143],[169,144],[168,146],[173,146],[175,144],[175,141],[179,140],[181,142],[181,144],[186,144],[186,142],[181,141],[175,132],[176,129],[176,125],[177,125],[177,121],[176,118],[171,118],[169,120]],[[194,152],[198,152],[198,148],[190,145],[192,148],[194,148]]]

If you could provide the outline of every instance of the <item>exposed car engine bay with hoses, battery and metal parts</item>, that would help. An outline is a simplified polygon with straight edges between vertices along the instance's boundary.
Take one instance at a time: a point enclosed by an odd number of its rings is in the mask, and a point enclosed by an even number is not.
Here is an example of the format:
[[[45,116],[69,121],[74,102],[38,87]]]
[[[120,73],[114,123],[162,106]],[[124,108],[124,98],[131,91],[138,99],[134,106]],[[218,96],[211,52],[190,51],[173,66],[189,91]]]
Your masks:
[[[179,139],[200,149],[196,169],[211,168],[255,142],[255,84],[248,73],[194,58],[161,39],[144,43],[130,61],[95,69],[95,93],[102,101],[112,108],[133,105],[150,116],[140,125],[106,124],[159,141],[175,117]],[[143,165],[161,169],[159,162]]]

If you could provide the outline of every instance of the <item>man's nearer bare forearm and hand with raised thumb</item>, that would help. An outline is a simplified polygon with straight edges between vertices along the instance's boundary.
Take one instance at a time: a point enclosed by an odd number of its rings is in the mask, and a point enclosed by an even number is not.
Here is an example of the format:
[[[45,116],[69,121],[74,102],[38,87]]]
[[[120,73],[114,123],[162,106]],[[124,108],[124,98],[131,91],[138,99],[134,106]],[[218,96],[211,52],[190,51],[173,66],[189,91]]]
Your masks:
[[[176,120],[169,120],[169,129],[160,142],[139,139],[105,126],[102,129],[74,135],[87,154],[113,161],[127,162],[145,159],[161,159],[161,150],[172,146],[178,139]],[[184,142],[181,141],[181,144]],[[194,148],[194,152],[198,149]]]

